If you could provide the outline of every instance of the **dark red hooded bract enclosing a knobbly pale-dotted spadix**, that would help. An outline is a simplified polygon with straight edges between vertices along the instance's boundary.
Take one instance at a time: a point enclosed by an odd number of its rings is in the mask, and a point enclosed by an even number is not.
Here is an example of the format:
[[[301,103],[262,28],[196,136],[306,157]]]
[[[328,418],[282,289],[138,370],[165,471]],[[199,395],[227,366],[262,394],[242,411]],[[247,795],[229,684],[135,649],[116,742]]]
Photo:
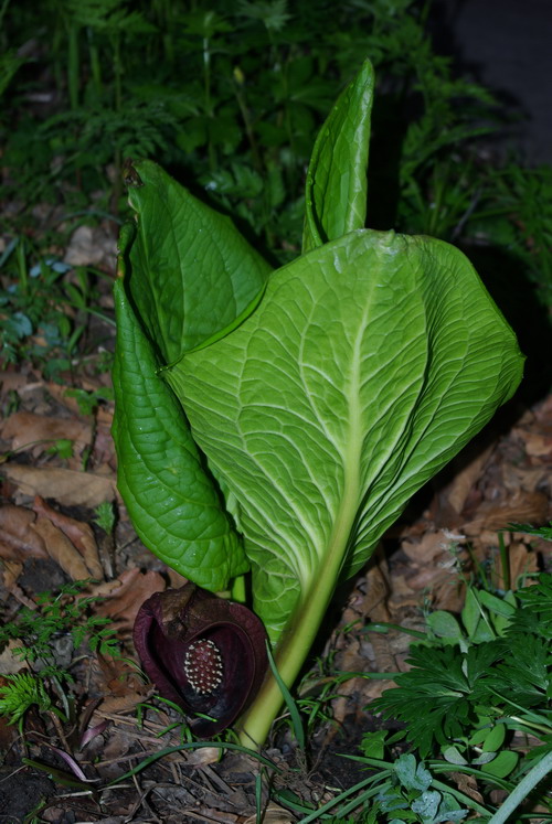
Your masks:
[[[265,629],[254,612],[194,584],[148,598],[136,617],[134,641],[160,694],[184,710],[202,737],[237,718],[268,663]]]

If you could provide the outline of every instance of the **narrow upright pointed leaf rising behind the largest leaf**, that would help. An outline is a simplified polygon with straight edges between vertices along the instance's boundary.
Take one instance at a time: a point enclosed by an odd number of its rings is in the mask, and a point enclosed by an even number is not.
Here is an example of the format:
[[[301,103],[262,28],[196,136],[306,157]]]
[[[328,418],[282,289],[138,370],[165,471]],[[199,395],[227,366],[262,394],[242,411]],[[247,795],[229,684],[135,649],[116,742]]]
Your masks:
[[[365,61],[318,133],[307,172],[304,252],[364,228],[373,93]]]

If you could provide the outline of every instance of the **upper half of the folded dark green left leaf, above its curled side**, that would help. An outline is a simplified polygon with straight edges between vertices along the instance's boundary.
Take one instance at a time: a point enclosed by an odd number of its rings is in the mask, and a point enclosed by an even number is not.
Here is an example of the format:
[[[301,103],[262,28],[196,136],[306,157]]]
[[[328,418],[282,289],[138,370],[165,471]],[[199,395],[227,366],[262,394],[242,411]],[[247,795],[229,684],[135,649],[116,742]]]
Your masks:
[[[240,317],[270,266],[230,217],[190,194],[149,160],[127,168],[137,234],[127,289],[166,363]]]

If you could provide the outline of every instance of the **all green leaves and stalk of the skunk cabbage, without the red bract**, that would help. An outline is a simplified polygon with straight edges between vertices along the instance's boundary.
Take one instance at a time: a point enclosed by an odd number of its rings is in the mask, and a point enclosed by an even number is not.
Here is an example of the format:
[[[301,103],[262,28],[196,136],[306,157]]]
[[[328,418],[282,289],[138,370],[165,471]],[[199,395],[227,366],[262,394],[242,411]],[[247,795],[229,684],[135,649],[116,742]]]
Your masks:
[[[275,271],[153,162],[127,168],[119,489],[144,543],[199,587],[251,576],[287,685],[338,581],[522,374],[458,249],[364,228],[372,96],[367,62],[316,140],[302,254]],[[245,743],[264,741],[280,703],[268,675]]]

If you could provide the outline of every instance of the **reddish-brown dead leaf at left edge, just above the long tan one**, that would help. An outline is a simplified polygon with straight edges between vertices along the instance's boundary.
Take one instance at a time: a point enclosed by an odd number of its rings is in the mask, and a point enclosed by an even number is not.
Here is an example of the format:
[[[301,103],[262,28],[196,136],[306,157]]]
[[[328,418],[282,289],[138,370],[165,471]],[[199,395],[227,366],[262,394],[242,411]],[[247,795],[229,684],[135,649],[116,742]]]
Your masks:
[[[6,419],[2,437],[11,439],[13,450],[32,450],[41,454],[52,442],[61,439],[72,440],[75,451],[81,453],[92,439],[92,426],[75,418],[51,418],[29,411],[17,411]]]

